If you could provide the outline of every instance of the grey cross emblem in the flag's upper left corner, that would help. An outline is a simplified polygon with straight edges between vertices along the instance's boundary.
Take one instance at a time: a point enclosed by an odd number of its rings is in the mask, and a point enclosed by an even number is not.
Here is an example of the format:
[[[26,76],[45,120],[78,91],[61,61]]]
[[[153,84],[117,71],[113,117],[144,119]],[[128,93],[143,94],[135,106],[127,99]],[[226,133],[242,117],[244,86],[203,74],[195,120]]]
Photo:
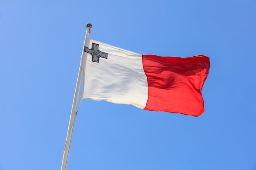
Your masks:
[[[93,62],[99,62],[99,57],[108,59],[108,53],[103,53],[103,52],[99,51],[99,44],[92,43],[91,49],[89,49],[88,47],[85,46],[83,51],[92,55]]]

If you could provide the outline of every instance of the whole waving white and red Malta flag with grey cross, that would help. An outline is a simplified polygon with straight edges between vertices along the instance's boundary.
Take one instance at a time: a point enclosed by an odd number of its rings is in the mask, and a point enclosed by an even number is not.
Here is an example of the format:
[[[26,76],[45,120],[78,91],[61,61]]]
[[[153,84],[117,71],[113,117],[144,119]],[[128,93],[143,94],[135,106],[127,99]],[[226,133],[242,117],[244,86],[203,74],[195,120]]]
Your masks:
[[[204,113],[201,90],[208,56],[142,55],[91,39],[86,45],[81,59],[83,99],[192,116]]]

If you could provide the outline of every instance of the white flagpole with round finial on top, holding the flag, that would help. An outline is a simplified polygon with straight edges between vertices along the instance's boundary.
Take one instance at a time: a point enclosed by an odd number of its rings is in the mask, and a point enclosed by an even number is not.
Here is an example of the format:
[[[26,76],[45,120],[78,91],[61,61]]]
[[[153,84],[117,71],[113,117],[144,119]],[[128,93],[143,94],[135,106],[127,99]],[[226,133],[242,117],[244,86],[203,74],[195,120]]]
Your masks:
[[[85,40],[83,46],[87,44],[89,40],[89,35],[90,35],[90,29],[92,28],[92,24],[88,23],[86,24],[86,34],[85,34]],[[61,170],[66,170],[67,168],[67,158],[68,158],[68,153],[70,150],[70,142],[71,142],[71,137],[72,137],[72,132],[73,132],[73,127],[74,127],[74,121],[76,117],[76,107],[78,103],[78,96],[79,96],[79,88],[81,84],[81,77],[82,77],[82,68],[81,68],[81,62],[79,66],[79,72],[77,76],[77,81],[76,81],[76,89],[75,89],[75,94],[74,94],[74,99],[73,99],[73,104],[72,104],[72,109],[71,109],[71,114],[70,114],[70,123],[68,125],[68,130],[67,130],[67,139],[64,147],[64,152],[63,152],[63,159],[62,159],[62,164],[61,164]]]

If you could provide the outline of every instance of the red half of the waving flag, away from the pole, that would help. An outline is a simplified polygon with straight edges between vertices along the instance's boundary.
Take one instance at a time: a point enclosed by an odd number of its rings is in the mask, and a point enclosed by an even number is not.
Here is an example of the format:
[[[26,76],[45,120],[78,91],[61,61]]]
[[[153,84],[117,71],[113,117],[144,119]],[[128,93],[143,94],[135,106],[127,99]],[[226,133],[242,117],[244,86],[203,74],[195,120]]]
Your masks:
[[[142,56],[148,79],[148,102],[145,110],[192,116],[204,113],[201,90],[210,67],[208,56]]]

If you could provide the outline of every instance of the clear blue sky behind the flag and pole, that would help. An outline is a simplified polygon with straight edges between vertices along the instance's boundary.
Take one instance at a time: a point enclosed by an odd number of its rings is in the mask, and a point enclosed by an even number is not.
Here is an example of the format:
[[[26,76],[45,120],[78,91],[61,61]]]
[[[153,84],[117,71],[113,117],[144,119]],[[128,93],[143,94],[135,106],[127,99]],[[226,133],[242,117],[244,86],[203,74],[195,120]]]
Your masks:
[[[143,54],[209,55],[199,117],[83,100],[67,170],[256,170],[256,0],[0,1],[0,170],[61,168],[86,24]]]

